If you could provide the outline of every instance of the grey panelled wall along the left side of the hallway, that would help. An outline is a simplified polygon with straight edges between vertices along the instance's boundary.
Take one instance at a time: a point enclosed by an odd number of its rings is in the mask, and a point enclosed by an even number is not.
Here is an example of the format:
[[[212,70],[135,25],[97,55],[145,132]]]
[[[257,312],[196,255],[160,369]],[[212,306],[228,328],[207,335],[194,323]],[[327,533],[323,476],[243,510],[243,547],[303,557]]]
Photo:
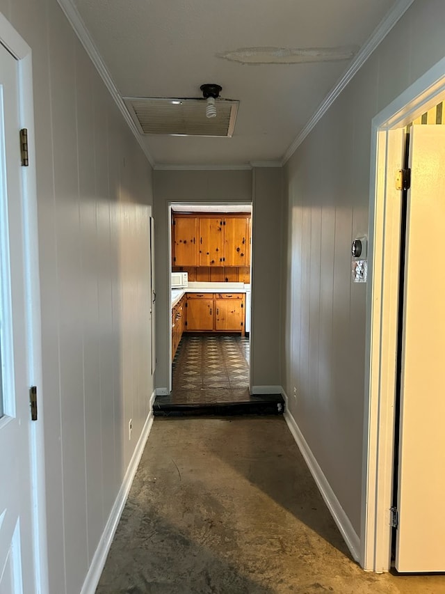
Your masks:
[[[33,51],[50,592],[79,594],[153,390],[151,171],[56,0],[0,10]]]

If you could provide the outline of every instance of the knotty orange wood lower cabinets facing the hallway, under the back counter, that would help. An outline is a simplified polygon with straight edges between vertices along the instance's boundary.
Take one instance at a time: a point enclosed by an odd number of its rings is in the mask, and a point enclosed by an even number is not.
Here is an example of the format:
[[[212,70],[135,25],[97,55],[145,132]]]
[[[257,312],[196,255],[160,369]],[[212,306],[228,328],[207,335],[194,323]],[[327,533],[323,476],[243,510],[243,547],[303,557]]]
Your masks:
[[[187,293],[188,332],[241,332],[244,336],[243,293]]]

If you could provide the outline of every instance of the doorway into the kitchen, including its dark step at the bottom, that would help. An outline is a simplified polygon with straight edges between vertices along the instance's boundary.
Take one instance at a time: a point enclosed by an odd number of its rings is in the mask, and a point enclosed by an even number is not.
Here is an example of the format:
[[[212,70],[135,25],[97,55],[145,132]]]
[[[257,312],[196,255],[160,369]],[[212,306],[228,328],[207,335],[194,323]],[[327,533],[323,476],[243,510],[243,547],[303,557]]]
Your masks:
[[[252,204],[168,208],[171,383],[154,414],[274,413],[280,395],[250,394]]]

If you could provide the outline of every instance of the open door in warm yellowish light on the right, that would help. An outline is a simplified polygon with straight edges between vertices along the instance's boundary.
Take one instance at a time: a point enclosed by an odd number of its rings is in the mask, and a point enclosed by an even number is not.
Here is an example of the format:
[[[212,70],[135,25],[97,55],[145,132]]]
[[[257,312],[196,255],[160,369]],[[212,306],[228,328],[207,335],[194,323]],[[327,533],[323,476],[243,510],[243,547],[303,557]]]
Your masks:
[[[445,126],[410,147],[396,569],[445,571]]]

